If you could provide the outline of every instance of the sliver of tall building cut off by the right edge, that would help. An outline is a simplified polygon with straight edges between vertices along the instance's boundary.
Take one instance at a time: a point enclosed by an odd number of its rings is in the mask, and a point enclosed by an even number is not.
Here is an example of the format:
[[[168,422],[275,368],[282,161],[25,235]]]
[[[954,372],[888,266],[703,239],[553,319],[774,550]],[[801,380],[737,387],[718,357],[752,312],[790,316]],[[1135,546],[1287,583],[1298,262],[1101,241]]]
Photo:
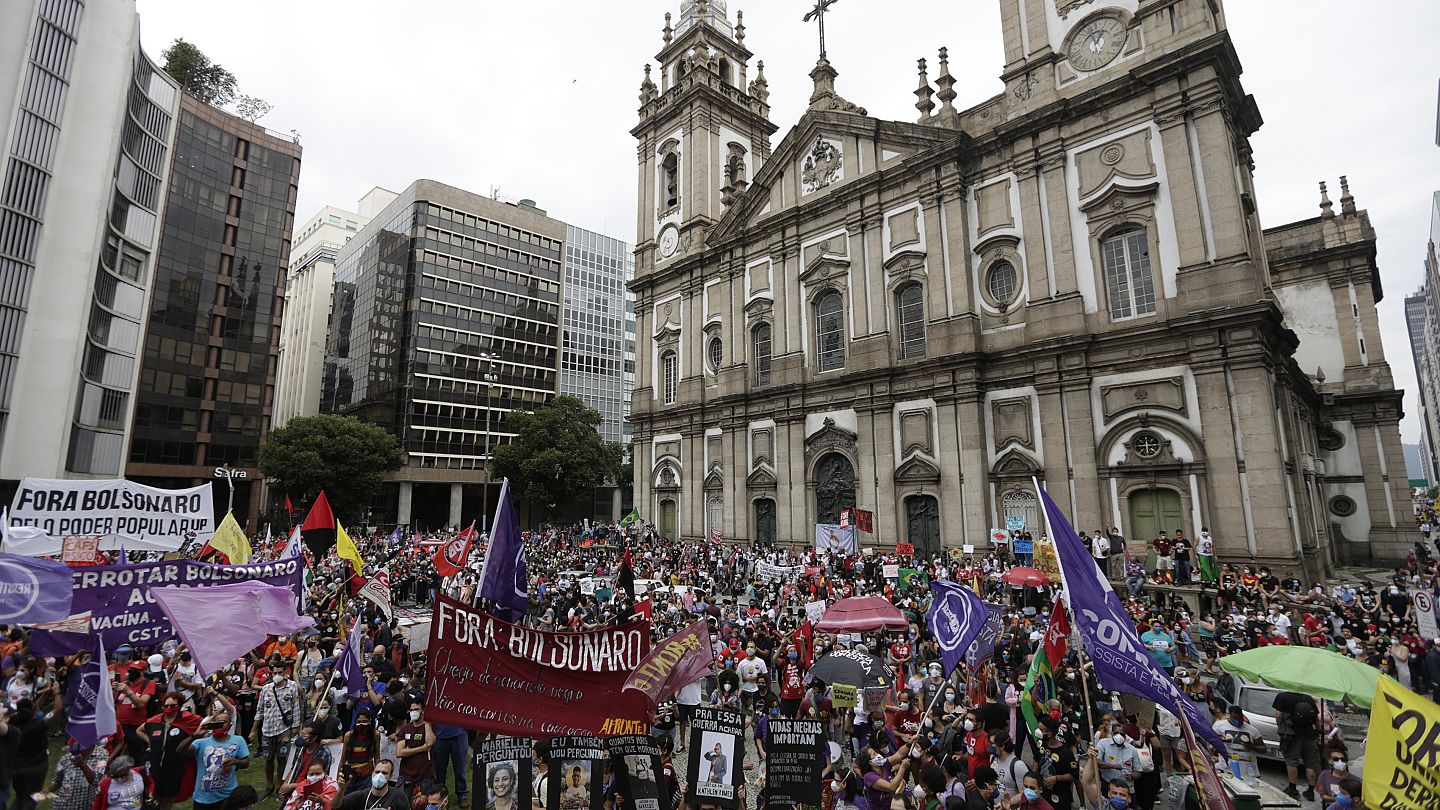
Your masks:
[[[1431,197],[1430,239],[1421,264],[1424,281],[1405,297],[1405,326],[1420,385],[1420,460],[1433,484],[1440,481],[1440,192]]]

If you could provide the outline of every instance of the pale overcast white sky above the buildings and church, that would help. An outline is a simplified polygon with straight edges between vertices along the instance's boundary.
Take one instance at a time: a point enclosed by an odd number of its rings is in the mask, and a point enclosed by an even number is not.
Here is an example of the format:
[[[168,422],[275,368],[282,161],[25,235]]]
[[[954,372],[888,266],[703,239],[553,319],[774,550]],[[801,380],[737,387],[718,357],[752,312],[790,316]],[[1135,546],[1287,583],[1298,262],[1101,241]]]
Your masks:
[[[779,143],[809,97],[809,0],[730,0],[765,61]],[[552,216],[635,238],[635,125],[642,65],[680,0],[140,0],[158,59],[177,36],[275,105],[261,123],[305,148],[297,225],[351,208],[372,186],[431,177],[533,197]],[[1440,189],[1436,98],[1440,3],[1230,0],[1230,33],[1264,127],[1254,135],[1261,222],[1319,213],[1316,183],[1348,174],[1380,238],[1385,356],[1405,389],[1407,442],[1418,398],[1404,297],[1420,285]],[[948,46],[956,105],[1001,88],[998,0],[841,0],[827,14],[837,88],[880,118],[914,120],[916,59]],[[755,72],[752,62],[752,76]]]

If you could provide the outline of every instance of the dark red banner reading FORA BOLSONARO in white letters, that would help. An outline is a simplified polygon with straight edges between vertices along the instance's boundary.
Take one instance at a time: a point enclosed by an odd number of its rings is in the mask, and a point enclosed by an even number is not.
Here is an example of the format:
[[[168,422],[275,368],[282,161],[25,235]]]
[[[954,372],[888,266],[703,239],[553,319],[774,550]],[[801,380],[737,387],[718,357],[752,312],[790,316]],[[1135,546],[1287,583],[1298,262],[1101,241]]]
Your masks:
[[[439,597],[431,620],[425,716],[517,736],[649,734],[645,696],[625,679],[649,627],[546,633]]]

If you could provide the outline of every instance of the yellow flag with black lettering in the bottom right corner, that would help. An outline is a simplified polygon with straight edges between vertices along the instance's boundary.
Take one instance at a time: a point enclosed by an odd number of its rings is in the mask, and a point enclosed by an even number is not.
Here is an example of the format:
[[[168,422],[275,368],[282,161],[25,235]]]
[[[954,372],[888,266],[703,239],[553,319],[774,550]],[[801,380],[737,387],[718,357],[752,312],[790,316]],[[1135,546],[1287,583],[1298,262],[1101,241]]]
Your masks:
[[[1440,705],[1380,676],[1365,741],[1365,804],[1395,810],[1433,809],[1436,797],[1440,797],[1437,738]]]

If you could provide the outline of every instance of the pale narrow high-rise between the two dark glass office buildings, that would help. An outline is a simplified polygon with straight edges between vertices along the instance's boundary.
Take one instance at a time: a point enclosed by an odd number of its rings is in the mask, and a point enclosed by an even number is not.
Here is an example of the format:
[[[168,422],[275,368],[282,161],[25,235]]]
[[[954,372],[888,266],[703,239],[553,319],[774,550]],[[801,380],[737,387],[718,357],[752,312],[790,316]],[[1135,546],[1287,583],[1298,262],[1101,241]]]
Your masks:
[[[285,278],[272,427],[320,412],[336,257],[395,197],[395,192],[374,187],[360,197],[356,210],[325,206],[295,232],[294,259]]]

